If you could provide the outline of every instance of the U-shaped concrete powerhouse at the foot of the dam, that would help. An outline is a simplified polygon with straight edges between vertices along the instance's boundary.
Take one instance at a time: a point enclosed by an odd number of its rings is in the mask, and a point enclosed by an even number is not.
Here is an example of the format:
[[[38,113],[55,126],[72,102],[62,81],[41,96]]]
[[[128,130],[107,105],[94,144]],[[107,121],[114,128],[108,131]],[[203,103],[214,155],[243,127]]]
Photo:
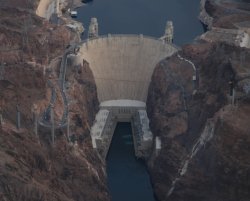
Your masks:
[[[107,102],[111,104],[117,101]],[[121,101],[118,102],[121,103]],[[129,103],[130,101],[125,102]],[[107,107],[109,107],[109,104]],[[134,106],[135,105],[136,104],[134,104]],[[143,104],[140,104],[140,106],[141,105]],[[124,119],[126,119],[126,122],[131,122],[132,125],[135,155],[139,158],[147,158],[152,148],[153,134],[149,129],[149,119],[145,107],[131,108],[127,106],[127,104],[126,106],[122,104],[122,106],[118,107],[116,104],[116,106],[110,107],[109,109],[101,108],[90,130],[93,148],[105,159],[116,124]]]

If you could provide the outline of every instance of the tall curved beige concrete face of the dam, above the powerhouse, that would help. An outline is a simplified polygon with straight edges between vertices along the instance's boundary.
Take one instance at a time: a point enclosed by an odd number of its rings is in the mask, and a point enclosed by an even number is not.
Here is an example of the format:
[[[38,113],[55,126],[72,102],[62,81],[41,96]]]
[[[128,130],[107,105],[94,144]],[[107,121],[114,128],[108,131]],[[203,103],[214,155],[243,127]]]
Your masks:
[[[79,57],[90,64],[100,102],[129,99],[146,102],[156,64],[171,56],[174,45],[142,35],[112,35],[82,43]]]

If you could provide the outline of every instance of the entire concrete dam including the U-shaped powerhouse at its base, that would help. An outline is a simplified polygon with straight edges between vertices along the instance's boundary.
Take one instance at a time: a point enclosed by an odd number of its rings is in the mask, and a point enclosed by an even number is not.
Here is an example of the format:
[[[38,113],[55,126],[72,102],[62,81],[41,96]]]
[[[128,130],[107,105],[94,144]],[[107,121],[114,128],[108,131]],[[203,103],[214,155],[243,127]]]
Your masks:
[[[148,87],[155,66],[178,51],[165,40],[143,35],[107,35],[80,45],[77,62],[89,63],[100,110],[91,128],[93,148],[105,158],[117,122],[131,122],[135,155],[146,158],[153,137],[146,113]]]

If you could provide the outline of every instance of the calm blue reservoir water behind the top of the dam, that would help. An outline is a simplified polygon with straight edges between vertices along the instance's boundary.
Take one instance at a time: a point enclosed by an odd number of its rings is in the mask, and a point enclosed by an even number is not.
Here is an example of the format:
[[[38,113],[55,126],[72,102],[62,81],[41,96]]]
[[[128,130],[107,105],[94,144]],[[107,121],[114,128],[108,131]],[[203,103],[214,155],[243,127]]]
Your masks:
[[[203,32],[197,18],[200,0],[94,0],[78,9],[78,21],[88,29],[97,17],[100,35],[144,34],[161,37],[167,20],[174,22],[174,42],[183,45]]]

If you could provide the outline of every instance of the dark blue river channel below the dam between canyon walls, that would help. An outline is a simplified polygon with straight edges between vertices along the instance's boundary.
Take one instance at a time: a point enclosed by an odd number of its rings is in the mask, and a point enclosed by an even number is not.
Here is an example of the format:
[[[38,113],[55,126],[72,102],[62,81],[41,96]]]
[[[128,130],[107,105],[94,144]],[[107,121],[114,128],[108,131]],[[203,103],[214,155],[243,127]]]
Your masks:
[[[155,201],[143,161],[137,160],[130,123],[118,123],[107,157],[112,201]]]

